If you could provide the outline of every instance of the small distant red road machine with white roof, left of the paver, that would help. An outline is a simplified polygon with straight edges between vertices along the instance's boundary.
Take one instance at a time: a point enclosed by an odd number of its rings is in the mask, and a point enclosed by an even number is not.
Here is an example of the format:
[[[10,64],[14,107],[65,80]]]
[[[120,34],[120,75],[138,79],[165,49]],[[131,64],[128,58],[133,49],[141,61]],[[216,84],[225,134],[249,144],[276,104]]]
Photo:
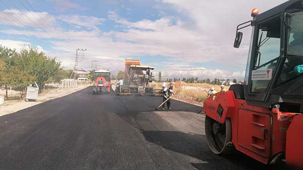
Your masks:
[[[102,94],[111,92],[111,72],[100,69],[93,72],[92,94]]]

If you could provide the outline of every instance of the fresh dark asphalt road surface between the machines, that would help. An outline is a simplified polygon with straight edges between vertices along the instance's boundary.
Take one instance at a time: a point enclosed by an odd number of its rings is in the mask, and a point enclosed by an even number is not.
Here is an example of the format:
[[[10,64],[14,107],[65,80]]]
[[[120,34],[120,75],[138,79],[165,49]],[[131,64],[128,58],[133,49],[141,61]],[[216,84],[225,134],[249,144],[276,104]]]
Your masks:
[[[86,88],[2,116],[0,169],[268,169],[243,154],[211,153],[204,135],[178,131],[153,113],[161,100],[92,95]],[[172,106],[200,110],[178,101]]]

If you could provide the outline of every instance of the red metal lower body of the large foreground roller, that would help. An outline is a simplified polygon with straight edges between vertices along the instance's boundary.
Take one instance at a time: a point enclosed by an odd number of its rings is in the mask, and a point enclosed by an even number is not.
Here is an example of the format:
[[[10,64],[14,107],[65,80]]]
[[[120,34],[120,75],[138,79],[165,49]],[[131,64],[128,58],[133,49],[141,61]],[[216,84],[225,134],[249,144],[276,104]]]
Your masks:
[[[220,92],[204,102],[206,116],[223,124],[231,120],[235,148],[263,163],[278,154],[291,167],[303,169],[303,115],[292,114],[284,121],[272,110],[251,106],[236,99],[233,91]]]

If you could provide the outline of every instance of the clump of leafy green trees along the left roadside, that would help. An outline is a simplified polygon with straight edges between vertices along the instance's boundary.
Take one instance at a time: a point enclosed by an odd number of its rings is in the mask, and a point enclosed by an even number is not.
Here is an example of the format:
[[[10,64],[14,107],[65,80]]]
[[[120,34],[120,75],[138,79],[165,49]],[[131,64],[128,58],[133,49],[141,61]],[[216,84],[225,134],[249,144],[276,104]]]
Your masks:
[[[26,87],[36,82],[42,92],[46,83],[60,82],[69,78],[70,70],[64,70],[55,57],[48,57],[35,48],[23,48],[20,51],[0,45],[0,87],[20,92],[24,96]]]

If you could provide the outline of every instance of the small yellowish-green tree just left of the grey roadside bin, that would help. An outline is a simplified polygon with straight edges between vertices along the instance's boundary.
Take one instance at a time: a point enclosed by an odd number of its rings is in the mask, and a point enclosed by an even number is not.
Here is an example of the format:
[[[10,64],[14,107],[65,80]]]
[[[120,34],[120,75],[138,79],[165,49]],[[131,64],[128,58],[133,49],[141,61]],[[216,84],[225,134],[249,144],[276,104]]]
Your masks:
[[[9,73],[9,76],[14,77],[10,85],[14,90],[20,92],[20,98],[22,99],[25,88],[33,82],[35,77],[29,75],[29,73],[16,66],[12,67],[12,71]]]

